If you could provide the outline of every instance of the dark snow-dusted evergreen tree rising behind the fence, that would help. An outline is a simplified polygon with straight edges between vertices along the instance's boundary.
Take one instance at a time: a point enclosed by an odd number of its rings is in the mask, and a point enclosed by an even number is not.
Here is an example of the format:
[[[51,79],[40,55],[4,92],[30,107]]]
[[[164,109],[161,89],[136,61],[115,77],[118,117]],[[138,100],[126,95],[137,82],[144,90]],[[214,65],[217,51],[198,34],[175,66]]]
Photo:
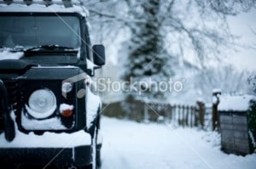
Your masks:
[[[142,82],[137,84],[137,90],[131,91],[131,98],[140,99],[162,99],[164,94],[160,93],[151,81],[168,82],[172,76],[172,67],[168,67],[171,62],[170,54],[167,54],[164,37],[160,33],[160,1],[146,0],[137,6],[133,11],[133,19],[139,20],[131,23],[131,41],[128,42],[128,59],[125,63],[126,82]],[[132,78],[132,79],[131,79]]]

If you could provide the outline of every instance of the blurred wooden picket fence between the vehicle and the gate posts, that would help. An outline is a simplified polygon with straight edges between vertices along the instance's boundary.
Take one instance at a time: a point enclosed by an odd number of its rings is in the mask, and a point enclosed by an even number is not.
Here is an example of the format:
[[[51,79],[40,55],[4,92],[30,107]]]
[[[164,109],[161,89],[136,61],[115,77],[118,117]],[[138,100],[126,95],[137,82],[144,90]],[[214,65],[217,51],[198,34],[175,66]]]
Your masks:
[[[205,127],[207,109],[200,101],[195,105],[185,105],[136,100],[130,103],[116,102],[105,106],[102,114],[112,117],[129,118],[139,122],[167,122],[182,127]]]

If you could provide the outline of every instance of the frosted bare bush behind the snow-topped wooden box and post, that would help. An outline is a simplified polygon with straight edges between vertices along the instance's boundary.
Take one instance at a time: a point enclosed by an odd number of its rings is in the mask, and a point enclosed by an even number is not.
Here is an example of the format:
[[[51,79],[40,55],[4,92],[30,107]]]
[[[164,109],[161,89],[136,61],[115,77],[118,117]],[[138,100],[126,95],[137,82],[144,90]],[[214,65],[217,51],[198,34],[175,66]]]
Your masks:
[[[247,79],[252,75],[253,72],[239,71],[231,65],[212,67],[201,71],[194,77],[192,88],[205,100],[210,98],[214,88],[219,88],[222,93],[226,94],[247,93],[249,87]]]

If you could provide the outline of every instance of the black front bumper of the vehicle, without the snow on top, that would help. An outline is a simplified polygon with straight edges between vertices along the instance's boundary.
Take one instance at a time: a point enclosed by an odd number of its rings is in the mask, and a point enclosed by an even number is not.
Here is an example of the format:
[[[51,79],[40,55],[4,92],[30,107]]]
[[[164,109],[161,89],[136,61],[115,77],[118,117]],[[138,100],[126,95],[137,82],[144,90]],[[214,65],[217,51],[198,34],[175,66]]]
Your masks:
[[[1,166],[38,165],[67,168],[67,166],[87,166],[92,162],[90,145],[74,148],[0,148]],[[47,168],[47,167],[46,167]]]

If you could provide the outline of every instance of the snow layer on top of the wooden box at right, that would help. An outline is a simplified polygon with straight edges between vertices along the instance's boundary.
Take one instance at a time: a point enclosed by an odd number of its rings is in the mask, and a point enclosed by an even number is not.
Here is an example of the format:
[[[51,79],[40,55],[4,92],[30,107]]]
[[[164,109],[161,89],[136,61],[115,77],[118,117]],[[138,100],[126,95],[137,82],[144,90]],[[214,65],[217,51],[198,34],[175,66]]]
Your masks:
[[[221,96],[218,104],[218,110],[228,111],[246,111],[250,106],[251,100],[256,100],[253,95],[240,95],[240,96]]]

